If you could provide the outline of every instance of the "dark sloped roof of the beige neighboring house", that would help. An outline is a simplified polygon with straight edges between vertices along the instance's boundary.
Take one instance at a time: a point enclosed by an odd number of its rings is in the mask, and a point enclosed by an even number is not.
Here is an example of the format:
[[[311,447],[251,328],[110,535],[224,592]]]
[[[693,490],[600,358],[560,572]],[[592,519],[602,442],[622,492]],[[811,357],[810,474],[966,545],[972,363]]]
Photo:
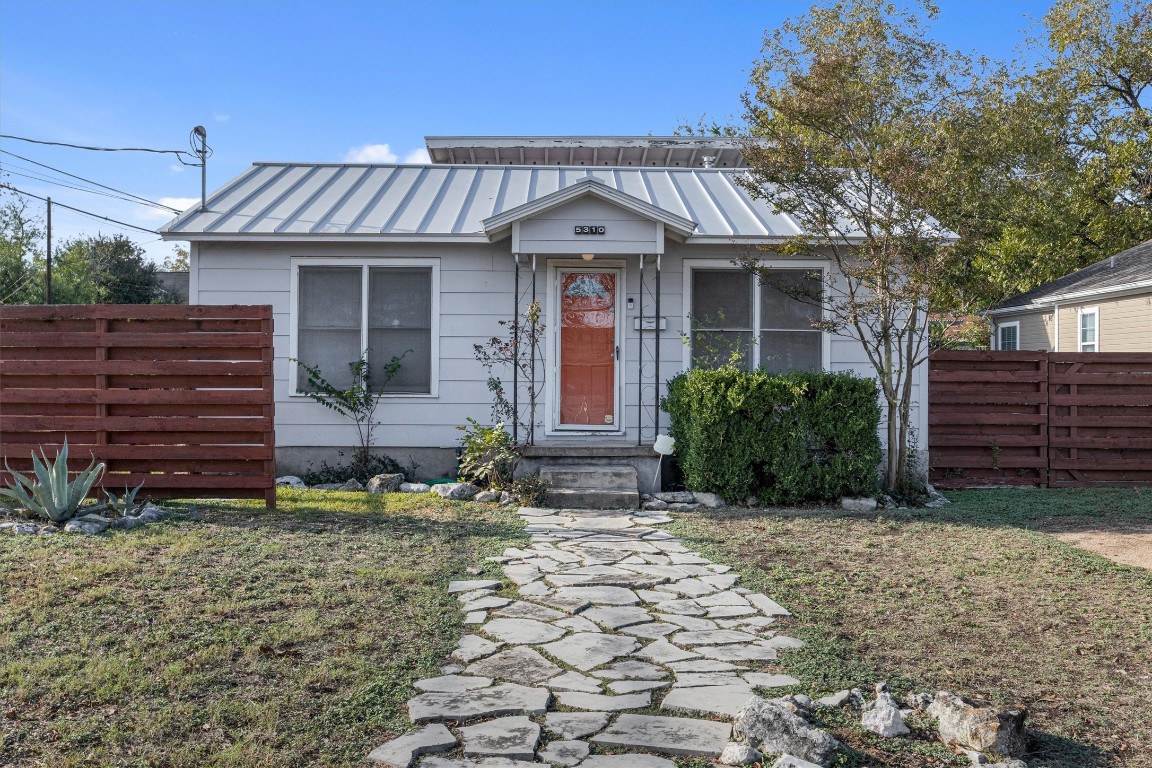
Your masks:
[[[1054,302],[1068,298],[1145,287],[1152,288],[1152,239],[1007,298],[988,310],[987,314],[1051,309]]]

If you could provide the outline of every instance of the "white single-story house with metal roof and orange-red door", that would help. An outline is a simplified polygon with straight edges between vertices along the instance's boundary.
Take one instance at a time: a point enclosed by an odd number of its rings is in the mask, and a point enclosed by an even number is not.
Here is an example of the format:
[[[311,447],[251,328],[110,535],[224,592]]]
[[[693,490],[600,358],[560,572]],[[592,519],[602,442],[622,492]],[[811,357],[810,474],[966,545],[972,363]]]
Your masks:
[[[733,265],[801,233],[737,183],[738,145],[699,138],[430,138],[432,165],[262,162],[166,225],[190,242],[192,304],[271,304],[276,446],[300,471],[355,443],[301,393],[291,362],[335,383],[364,349],[406,353],[378,408],[380,448],[420,474],[452,471],[457,426],[491,421],[473,345],[533,299],[546,326],[537,456],[612,456],[638,467],[667,429],[666,382],[694,363],[872,377],[861,345],[811,326],[809,305]],[[825,259],[771,250],[780,277]],[[694,327],[695,326],[695,327]],[[501,372],[511,391],[513,373]],[[531,382],[518,380],[526,416]],[[917,401],[926,393],[918,380]],[[915,421],[926,444],[926,409]],[[528,435],[521,429],[518,438]],[[653,466],[649,464],[650,466]],[[644,477],[642,471],[642,478]],[[647,472],[651,478],[651,472]]]

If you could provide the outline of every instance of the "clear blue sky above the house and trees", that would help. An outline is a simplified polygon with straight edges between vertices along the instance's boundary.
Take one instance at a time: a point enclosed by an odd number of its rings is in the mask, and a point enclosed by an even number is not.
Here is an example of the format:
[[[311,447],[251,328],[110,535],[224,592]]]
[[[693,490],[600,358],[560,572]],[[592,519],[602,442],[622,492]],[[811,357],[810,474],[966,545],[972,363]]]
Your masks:
[[[210,192],[257,160],[419,160],[429,135],[668,135],[702,114],[737,117],[764,30],[810,5],[2,0],[0,134],[181,150],[202,124]],[[1049,3],[939,5],[937,39],[1009,58]],[[152,200],[199,196],[198,169],[173,155],[0,150]],[[30,178],[55,174],[10,154],[0,166],[67,205],[145,228],[168,218]],[[123,231],[60,208],[53,228]],[[153,258],[172,252],[126,234]]]

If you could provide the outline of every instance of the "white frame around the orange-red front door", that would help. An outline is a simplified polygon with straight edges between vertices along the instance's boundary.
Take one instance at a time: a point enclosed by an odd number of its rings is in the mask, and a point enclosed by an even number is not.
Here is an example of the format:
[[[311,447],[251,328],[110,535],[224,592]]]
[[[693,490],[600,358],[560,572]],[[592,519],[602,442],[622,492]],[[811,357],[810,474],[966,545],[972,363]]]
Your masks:
[[[617,435],[623,434],[626,429],[624,425],[624,413],[627,409],[624,408],[624,296],[627,291],[624,290],[624,277],[628,274],[627,261],[623,259],[602,259],[597,257],[592,261],[584,261],[582,259],[551,259],[548,261],[548,283],[547,283],[547,297],[548,297],[548,311],[546,324],[551,332],[547,334],[547,348],[545,353],[548,360],[548,371],[552,373],[550,377],[551,382],[547,387],[547,413],[548,421],[545,426],[546,435],[571,435],[571,434],[611,434]],[[613,413],[613,421],[611,426],[592,426],[592,425],[560,425],[560,286],[562,281],[562,275],[573,272],[614,272],[616,274],[616,349],[620,350],[620,355],[616,357],[616,365],[613,381],[613,390],[615,393],[615,412]]]

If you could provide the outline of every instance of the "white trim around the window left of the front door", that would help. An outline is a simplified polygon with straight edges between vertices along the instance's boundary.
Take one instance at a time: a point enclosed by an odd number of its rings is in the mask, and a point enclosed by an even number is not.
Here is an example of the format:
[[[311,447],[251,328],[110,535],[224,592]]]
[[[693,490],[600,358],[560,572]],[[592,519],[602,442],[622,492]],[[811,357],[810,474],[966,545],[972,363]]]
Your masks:
[[[431,328],[431,358],[432,371],[430,374],[430,389],[426,393],[381,393],[377,400],[435,400],[440,397],[440,259],[387,259],[387,258],[340,258],[340,257],[293,257],[291,258],[291,291],[290,304],[290,343],[288,360],[288,391],[289,397],[308,398],[306,393],[296,388],[298,377],[298,364],[295,363],[297,344],[300,342],[300,268],[301,267],[359,267],[363,272],[361,290],[363,301],[361,302],[361,349],[367,344],[367,269],[371,267],[431,267],[432,268],[432,328]]]

